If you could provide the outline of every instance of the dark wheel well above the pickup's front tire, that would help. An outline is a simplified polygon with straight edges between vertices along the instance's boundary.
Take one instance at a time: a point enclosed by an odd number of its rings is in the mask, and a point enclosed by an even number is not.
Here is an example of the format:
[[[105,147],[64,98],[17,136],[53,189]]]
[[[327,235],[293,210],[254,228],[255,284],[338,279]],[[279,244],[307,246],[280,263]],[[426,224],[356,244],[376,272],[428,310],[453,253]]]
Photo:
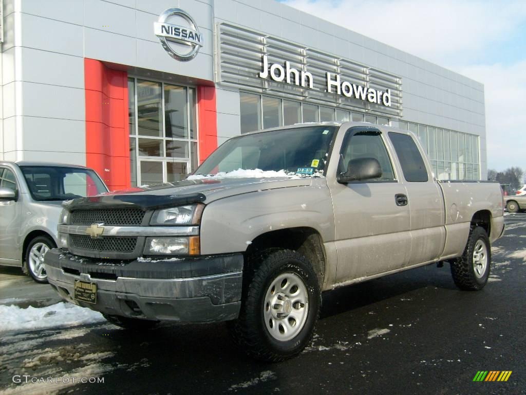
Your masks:
[[[289,228],[261,234],[248,246],[247,263],[251,265],[251,256],[256,255],[258,251],[268,249],[295,250],[304,255],[312,264],[320,288],[322,287],[326,266],[325,249],[321,236],[315,229]]]

